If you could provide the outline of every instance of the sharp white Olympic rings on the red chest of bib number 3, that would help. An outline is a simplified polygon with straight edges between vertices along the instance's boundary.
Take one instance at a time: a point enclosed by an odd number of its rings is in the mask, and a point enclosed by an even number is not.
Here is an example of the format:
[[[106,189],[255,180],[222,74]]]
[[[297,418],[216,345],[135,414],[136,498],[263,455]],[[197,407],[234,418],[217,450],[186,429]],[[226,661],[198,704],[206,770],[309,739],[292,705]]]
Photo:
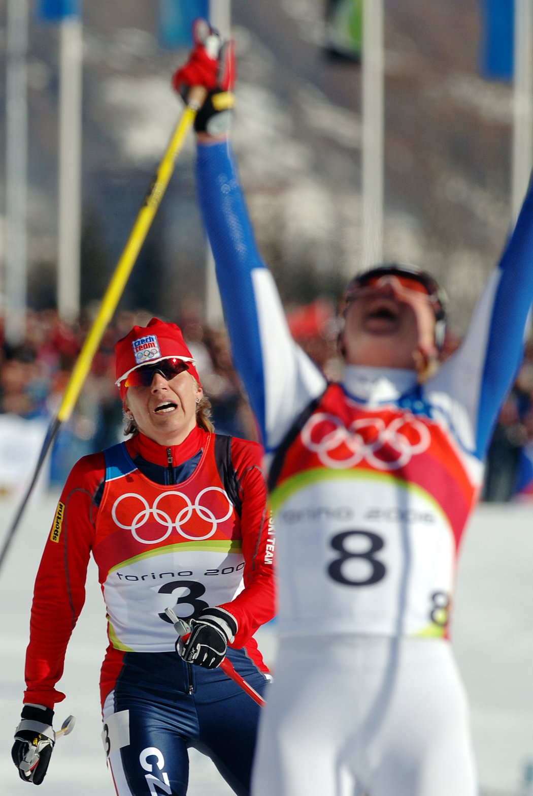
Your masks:
[[[225,502],[228,503],[228,510],[224,514],[224,517],[216,517],[212,509],[208,508],[206,505],[200,504],[201,498],[208,492],[220,492],[220,494],[224,495]],[[167,512],[163,511],[163,509],[159,507],[159,503],[164,497],[172,497],[173,500],[175,500],[177,497],[181,497],[182,500],[185,501],[184,507],[177,512],[174,518],[172,518]],[[119,520],[119,517],[117,517],[117,509],[119,509],[119,505],[128,498],[133,498],[134,501],[139,501],[141,509],[139,509],[139,511],[135,514],[130,524],[126,525]],[[129,506],[131,506],[131,503],[129,503]],[[228,494],[226,494],[223,489],[220,489],[220,486],[207,486],[204,490],[201,490],[196,495],[194,503],[191,502],[189,497],[183,494],[183,492],[169,491],[158,495],[158,497],[156,497],[154,500],[154,505],[152,505],[151,508],[146,498],[142,497],[142,495],[139,495],[136,492],[126,492],[126,494],[120,495],[120,497],[117,497],[115,500],[113,508],[111,509],[111,517],[113,517],[113,520],[115,521],[116,525],[119,526],[119,528],[131,531],[131,535],[134,537],[134,539],[136,539],[138,542],[141,542],[141,544],[158,544],[158,542],[162,542],[169,537],[173,528],[175,528],[177,533],[179,533],[180,536],[184,537],[185,539],[190,539],[193,541],[209,539],[209,537],[212,537],[213,533],[216,532],[216,529],[220,523],[228,520],[228,518],[231,517],[232,511],[233,504],[231,503]],[[187,533],[183,527],[185,523],[188,522],[191,517],[193,517],[193,512],[196,513],[196,517],[200,517],[201,520],[211,524],[211,529],[208,530],[208,533],[204,533],[203,536],[198,536],[197,534],[191,535],[190,533]],[[160,525],[166,525],[165,533],[163,533],[163,535],[158,539],[145,539],[138,533],[138,530],[141,529],[142,526],[146,525],[146,522],[150,519],[150,515],[154,517],[154,520],[158,521]]]

